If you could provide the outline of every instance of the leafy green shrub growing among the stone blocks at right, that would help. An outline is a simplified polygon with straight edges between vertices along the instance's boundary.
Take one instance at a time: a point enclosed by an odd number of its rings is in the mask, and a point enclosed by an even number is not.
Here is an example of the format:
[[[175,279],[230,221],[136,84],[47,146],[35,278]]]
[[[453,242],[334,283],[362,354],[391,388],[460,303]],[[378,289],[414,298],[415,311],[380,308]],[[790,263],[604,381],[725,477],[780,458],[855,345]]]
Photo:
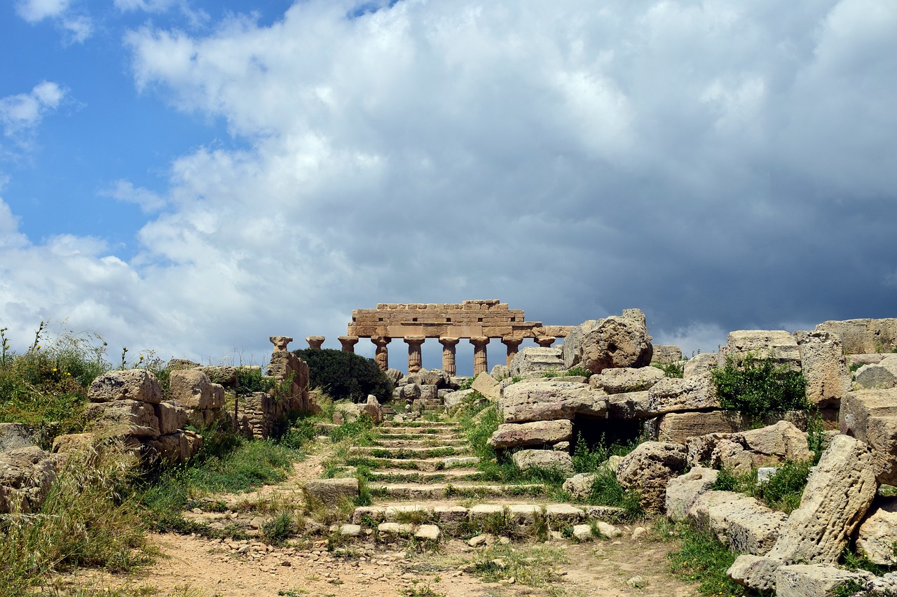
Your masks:
[[[726,358],[726,364],[711,372],[719,404],[761,419],[771,412],[806,411],[806,379],[798,371],[772,359]]]

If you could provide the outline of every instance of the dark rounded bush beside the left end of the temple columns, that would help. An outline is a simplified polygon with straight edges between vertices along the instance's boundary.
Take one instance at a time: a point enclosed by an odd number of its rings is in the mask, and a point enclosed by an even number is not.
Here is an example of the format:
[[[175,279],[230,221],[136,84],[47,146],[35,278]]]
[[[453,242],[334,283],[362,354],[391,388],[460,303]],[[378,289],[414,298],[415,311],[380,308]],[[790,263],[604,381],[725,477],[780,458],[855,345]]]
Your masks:
[[[374,394],[380,402],[392,398],[393,384],[373,359],[332,349],[293,350],[309,364],[310,385],[335,399],[364,402]]]

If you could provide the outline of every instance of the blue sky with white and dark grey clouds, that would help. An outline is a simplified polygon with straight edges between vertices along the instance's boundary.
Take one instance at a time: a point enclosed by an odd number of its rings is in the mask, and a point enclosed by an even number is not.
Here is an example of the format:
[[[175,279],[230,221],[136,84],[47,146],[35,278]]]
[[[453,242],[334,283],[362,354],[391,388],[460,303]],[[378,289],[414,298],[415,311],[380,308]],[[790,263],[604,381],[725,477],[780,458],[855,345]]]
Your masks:
[[[639,307],[686,355],[897,316],[893,0],[12,0],[0,56],[13,350],[262,364],[464,299]]]

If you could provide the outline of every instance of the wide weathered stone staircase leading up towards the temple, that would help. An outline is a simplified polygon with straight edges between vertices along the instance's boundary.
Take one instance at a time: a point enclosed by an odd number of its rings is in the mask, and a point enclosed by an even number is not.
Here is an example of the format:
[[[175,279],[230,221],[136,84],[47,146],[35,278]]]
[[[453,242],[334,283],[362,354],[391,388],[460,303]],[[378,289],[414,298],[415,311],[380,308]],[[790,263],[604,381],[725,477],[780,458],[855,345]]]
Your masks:
[[[447,420],[415,421],[378,428],[372,446],[353,446],[349,463],[370,470],[370,506],[356,507],[341,532],[378,533],[388,538],[440,534],[474,543],[508,539],[579,539],[618,534],[608,521],[623,511],[609,506],[573,506],[550,497],[541,483],[498,484],[483,480],[461,429]],[[475,541],[476,540],[476,541]]]

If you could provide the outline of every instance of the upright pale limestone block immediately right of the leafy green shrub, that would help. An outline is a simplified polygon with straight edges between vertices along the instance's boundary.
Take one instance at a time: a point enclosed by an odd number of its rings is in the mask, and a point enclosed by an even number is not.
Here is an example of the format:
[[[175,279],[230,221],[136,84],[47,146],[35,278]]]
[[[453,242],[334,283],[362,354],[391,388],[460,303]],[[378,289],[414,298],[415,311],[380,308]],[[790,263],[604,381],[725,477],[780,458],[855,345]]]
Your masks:
[[[835,407],[850,391],[850,371],[840,339],[828,332],[795,332],[806,399],[817,408]]]

